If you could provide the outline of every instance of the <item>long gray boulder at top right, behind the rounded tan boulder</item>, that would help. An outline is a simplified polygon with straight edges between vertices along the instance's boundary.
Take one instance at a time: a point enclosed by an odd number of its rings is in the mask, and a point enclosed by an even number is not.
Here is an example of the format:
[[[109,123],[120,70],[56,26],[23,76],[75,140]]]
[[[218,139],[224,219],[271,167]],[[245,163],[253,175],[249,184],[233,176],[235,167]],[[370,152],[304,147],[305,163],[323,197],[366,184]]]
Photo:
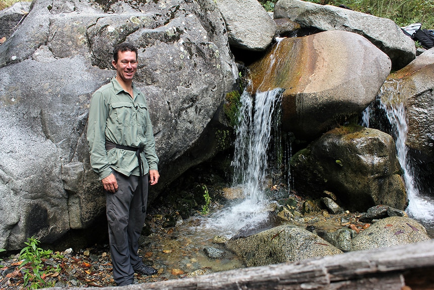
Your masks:
[[[302,28],[358,33],[384,51],[394,69],[403,68],[416,56],[414,41],[390,19],[300,0],[279,0],[274,6],[274,18],[289,18]]]

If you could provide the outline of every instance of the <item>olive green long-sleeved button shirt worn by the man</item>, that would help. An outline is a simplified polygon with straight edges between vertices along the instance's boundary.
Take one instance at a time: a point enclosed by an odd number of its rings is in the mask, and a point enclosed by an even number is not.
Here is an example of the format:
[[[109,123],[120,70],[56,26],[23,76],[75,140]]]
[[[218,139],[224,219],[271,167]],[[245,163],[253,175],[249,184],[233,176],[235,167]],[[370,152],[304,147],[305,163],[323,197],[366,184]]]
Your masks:
[[[133,98],[113,78],[99,88],[91,99],[87,139],[90,162],[93,170],[102,180],[112,169],[123,175],[139,176],[135,151],[113,148],[106,150],[106,140],[115,144],[140,147],[143,174],[149,169],[158,170],[158,157],[148,105],[144,95],[134,86]]]

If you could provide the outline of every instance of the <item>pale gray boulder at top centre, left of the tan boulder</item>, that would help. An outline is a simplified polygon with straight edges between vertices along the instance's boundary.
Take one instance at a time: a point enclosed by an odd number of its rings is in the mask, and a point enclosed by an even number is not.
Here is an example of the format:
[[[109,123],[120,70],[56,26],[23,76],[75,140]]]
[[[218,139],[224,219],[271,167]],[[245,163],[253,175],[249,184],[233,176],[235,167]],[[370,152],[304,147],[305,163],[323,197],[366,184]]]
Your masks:
[[[257,0],[216,0],[215,4],[225,19],[231,45],[253,51],[270,45],[276,24]]]

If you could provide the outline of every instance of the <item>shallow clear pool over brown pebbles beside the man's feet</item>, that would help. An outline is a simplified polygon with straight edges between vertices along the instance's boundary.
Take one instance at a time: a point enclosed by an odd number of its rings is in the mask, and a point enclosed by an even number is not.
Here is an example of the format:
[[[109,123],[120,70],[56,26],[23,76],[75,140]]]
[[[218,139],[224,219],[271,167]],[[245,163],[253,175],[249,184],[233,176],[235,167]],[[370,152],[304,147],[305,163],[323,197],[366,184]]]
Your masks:
[[[159,271],[160,277],[176,279],[245,267],[238,256],[215,242],[214,230],[201,226],[201,216],[190,217],[171,228],[159,227],[160,222],[155,219],[154,233],[140,238],[139,254],[144,263]],[[205,253],[209,247],[223,254],[210,258]]]

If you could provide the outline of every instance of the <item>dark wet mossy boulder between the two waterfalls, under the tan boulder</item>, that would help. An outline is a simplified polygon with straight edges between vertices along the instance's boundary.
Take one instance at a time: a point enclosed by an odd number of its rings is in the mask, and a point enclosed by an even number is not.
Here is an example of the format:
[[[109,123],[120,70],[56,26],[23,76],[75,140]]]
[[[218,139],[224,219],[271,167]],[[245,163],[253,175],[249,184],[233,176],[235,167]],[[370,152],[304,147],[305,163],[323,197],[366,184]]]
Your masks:
[[[320,197],[330,191],[344,208],[384,204],[405,209],[407,196],[392,136],[360,126],[335,128],[291,159],[294,188]]]

